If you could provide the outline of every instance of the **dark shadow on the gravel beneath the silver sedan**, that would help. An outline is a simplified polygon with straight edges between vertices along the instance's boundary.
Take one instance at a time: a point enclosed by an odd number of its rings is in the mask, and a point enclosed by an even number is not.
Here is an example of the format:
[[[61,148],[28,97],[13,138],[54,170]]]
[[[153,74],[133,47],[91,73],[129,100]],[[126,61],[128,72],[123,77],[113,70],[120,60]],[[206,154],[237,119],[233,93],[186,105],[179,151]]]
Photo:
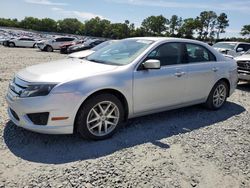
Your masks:
[[[131,119],[125,128],[112,138],[103,141],[84,140],[78,134],[33,133],[9,121],[3,137],[7,147],[17,157],[32,162],[63,164],[103,157],[144,143],[152,143],[161,149],[168,149],[170,146],[162,143],[161,139],[213,125],[244,111],[242,106],[227,102],[218,111],[192,106],[162,112]]]

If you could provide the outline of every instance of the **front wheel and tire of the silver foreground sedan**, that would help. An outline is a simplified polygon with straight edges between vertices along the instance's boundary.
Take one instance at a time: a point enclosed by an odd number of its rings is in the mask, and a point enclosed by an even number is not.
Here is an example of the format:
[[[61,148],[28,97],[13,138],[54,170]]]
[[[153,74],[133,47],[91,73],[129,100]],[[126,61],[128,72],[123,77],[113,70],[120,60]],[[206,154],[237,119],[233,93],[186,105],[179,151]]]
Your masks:
[[[99,94],[80,107],[75,126],[83,138],[103,140],[113,136],[121,126],[123,118],[121,101],[112,94]]]

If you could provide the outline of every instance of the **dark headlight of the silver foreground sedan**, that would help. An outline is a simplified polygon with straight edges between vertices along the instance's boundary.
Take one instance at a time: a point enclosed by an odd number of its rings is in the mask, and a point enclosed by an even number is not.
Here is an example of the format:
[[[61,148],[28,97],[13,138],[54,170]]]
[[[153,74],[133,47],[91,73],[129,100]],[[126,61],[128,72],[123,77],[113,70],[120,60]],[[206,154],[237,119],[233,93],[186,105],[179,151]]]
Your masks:
[[[45,96],[56,86],[56,84],[31,85],[22,91],[20,97]]]

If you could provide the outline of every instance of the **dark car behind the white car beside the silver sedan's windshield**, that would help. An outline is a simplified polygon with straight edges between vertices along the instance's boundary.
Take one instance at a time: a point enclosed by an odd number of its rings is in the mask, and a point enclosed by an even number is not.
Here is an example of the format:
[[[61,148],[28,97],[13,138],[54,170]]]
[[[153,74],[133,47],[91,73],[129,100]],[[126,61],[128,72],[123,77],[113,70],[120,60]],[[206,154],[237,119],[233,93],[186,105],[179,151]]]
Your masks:
[[[91,49],[95,46],[97,46],[98,44],[103,43],[104,39],[91,39],[91,40],[87,40],[86,42],[82,43],[82,44],[76,44],[73,46],[70,46],[68,48],[68,53],[73,53],[73,52],[79,52],[82,50],[88,50]]]

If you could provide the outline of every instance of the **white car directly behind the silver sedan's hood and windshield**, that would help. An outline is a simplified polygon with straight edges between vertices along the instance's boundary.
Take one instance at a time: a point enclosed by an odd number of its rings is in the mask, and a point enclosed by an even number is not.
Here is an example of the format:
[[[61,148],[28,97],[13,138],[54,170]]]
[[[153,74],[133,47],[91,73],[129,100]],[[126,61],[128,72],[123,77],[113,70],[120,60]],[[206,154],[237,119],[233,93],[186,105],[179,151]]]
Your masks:
[[[108,46],[116,41],[117,40],[108,40],[108,41],[105,41],[101,44],[98,44],[97,46],[95,46],[94,48],[91,48],[89,50],[83,50],[83,51],[71,53],[68,55],[68,57],[70,57],[70,58],[85,58],[88,55],[96,52],[97,50],[100,50],[101,48],[104,48],[104,47],[106,47],[106,46]]]

